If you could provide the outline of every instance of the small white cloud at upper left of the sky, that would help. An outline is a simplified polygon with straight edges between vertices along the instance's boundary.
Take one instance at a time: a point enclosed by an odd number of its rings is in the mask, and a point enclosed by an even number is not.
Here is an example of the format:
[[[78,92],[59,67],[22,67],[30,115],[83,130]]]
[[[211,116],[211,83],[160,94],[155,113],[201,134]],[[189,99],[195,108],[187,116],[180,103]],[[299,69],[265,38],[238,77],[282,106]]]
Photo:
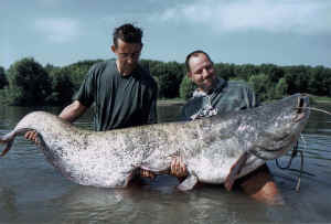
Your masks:
[[[54,43],[71,42],[79,34],[78,21],[70,18],[39,19],[35,21],[35,28]]]

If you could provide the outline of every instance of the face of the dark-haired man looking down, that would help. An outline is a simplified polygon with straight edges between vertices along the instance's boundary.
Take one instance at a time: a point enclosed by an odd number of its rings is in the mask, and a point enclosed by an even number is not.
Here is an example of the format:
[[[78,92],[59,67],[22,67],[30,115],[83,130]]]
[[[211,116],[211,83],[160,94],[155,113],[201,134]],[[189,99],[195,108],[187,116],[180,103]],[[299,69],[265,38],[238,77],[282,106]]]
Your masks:
[[[141,43],[127,43],[120,39],[117,40],[117,47],[111,46],[111,51],[117,55],[117,68],[120,74],[131,74],[138,64],[141,49]]]

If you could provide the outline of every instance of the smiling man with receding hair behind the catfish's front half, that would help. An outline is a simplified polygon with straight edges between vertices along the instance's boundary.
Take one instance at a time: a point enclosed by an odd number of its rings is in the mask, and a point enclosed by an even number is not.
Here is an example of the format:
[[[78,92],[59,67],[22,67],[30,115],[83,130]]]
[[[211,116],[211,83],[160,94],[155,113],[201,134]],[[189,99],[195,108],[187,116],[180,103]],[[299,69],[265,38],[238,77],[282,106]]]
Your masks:
[[[216,77],[213,62],[203,51],[194,51],[186,56],[189,78],[197,88],[193,97],[182,108],[182,119],[193,120],[215,114],[235,111],[258,106],[254,90],[244,82],[226,82]],[[177,159],[172,171],[185,175],[184,164]],[[238,180],[245,193],[258,201],[282,203],[282,198],[274,182],[268,167],[264,164],[253,173]]]

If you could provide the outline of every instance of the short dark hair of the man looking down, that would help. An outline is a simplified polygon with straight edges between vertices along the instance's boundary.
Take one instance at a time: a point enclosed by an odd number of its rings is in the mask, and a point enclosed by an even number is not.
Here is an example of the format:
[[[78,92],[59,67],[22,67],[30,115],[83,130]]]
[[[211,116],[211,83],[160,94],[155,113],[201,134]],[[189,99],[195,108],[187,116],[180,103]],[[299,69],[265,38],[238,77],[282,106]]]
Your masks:
[[[120,39],[127,43],[141,43],[142,30],[131,23],[122,24],[114,30],[113,42],[117,47],[117,40]]]

